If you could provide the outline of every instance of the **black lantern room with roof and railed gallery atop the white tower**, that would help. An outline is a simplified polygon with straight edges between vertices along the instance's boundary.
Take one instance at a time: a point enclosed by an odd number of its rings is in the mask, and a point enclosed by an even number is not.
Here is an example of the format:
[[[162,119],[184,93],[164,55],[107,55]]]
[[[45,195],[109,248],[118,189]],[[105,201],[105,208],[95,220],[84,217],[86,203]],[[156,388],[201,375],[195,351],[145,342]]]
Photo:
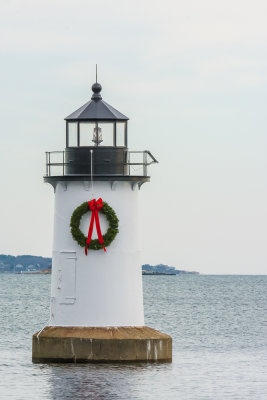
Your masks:
[[[147,150],[128,150],[129,118],[106,103],[101,90],[101,85],[94,83],[91,100],[65,118],[66,148],[46,153],[45,181],[54,184],[94,177],[140,185],[149,180],[147,166],[156,159]]]

